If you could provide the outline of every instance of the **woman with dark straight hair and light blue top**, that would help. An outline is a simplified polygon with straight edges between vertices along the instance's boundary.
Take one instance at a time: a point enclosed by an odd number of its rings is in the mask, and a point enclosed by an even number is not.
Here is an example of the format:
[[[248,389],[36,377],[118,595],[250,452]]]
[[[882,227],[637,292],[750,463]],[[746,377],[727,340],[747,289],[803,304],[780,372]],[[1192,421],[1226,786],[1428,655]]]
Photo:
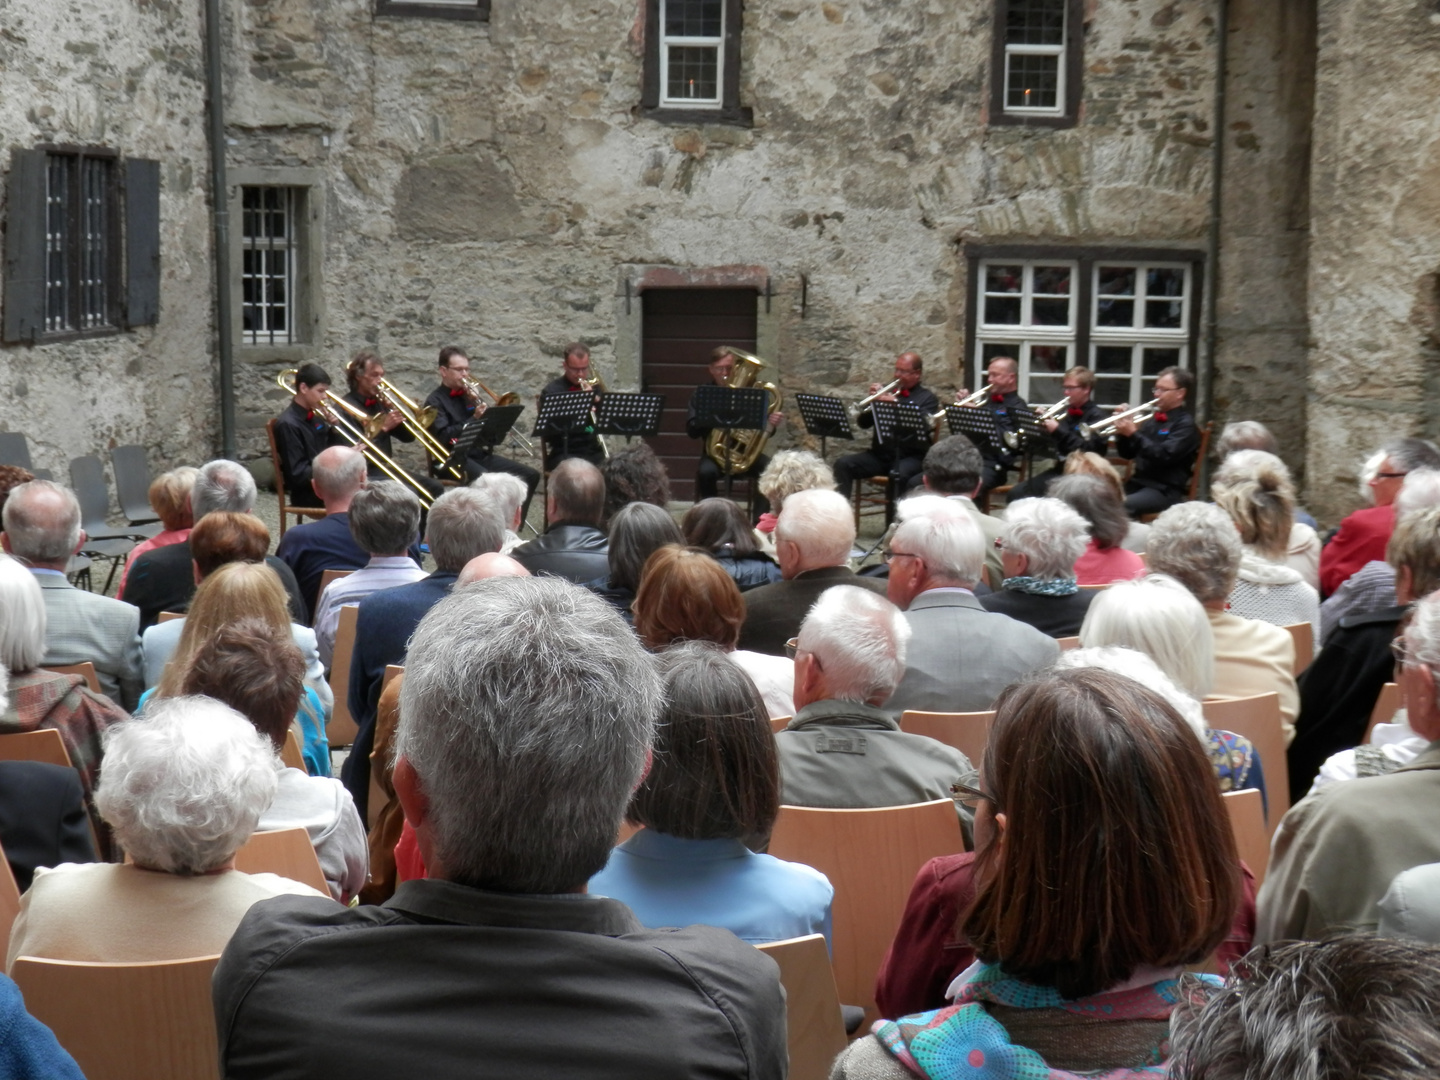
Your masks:
[[[780,811],[775,736],[755,684],[713,645],[658,658],[665,708],[654,763],[631,796],[641,825],[590,878],[644,926],[721,926],[760,945],[824,933],[835,896],[818,870],[757,855]]]

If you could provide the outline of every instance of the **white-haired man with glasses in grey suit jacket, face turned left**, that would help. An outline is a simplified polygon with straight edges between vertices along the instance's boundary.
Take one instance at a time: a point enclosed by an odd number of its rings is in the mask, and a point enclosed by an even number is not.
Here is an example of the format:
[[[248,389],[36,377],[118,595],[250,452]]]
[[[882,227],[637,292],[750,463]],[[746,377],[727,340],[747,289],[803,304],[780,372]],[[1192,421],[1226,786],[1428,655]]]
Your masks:
[[[890,537],[888,596],[913,631],[904,677],[887,711],[978,713],[1001,690],[1060,655],[1056,639],[985,611],[975,596],[985,563],[973,516],[953,500],[914,495]],[[799,704],[799,701],[796,701]]]

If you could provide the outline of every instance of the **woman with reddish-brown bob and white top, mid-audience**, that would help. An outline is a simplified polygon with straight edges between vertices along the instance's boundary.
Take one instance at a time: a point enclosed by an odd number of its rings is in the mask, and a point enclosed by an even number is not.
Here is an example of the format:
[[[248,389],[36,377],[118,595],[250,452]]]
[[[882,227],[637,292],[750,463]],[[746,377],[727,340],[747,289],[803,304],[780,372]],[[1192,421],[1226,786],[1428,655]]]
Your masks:
[[[706,552],[667,544],[645,562],[635,596],[635,632],[645,648],[660,652],[684,641],[719,645],[760,690],[770,719],[795,716],[795,662],[737,649],[743,621],[739,586]]]

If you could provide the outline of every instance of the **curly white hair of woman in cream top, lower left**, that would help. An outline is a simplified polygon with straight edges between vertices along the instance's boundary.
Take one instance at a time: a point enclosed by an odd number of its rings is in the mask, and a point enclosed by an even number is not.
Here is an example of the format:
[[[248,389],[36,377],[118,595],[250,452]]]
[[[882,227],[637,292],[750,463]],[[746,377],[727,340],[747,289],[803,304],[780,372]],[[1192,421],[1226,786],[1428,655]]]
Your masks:
[[[229,706],[161,698],[107,732],[95,808],[137,864],[203,874],[251,838],[275,769],[274,744]]]

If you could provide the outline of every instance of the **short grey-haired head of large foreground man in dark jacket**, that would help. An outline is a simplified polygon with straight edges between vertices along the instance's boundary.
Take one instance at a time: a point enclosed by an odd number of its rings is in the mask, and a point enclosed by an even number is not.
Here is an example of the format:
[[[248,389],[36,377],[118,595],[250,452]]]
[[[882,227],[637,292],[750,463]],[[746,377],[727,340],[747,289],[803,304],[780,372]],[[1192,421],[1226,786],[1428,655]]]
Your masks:
[[[431,608],[396,753],[429,799],[446,876],[501,893],[585,884],[609,858],[662,698],[619,613],[569,582],[490,577]]]

